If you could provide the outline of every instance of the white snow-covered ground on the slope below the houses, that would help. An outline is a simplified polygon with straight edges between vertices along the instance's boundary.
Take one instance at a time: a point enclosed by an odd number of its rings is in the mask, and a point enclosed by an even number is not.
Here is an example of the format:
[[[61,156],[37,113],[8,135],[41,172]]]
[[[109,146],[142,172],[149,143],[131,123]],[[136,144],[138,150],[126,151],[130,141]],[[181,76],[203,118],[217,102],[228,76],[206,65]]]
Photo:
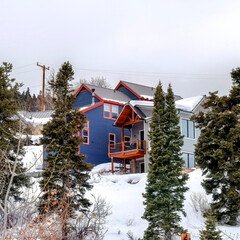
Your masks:
[[[26,147],[25,150],[24,163],[26,165],[31,165],[36,157],[42,159],[42,146]],[[41,162],[37,161],[37,166],[39,167],[40,165]],[[147,227],[147,222],[141,218],[144,211],[142,193],[145,191],[147,174],[112,175],[110,169],[111,165],[107,163],[98,165],[92,170],[90,183],[93,185],[93,189],[87,193],[89,198],[91,198],[91,194],[105,198],[112,207],[112,214],[107,218],[106,227],[108,228],[108,232],[104,239],[127,240],[126,234],[128,231],[133,232],[135,237],[142,237]],[[196,196],[202,200],[211,200],[209,196],[205,195],[201,181],[200,169],[189,173],[189,180],[187,182],[189,191],[186,193],[184,205],[187,216],[182,217],[181,224],[184,228],[188,229],[192,240],[199,239],[199,230],[204,226],[205,219],[199,211],[197,202],[193,203],[191,198]],[[196,212],[195,208],[198,212]],[[226,225],[218,227],[232,236],[232,239],[240,238],[240,225],[236,227]]]

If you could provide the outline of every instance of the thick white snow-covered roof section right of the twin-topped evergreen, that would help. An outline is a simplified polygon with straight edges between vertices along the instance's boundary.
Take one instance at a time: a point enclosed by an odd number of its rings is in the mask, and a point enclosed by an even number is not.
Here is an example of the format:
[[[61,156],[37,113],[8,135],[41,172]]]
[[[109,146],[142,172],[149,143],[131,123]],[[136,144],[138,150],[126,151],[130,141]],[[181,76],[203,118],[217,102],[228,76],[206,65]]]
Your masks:
[[[203,97],[204,96],[196,96],[178,100],[175,102],[176,108],[183,111],[192,112],[203,99]]]

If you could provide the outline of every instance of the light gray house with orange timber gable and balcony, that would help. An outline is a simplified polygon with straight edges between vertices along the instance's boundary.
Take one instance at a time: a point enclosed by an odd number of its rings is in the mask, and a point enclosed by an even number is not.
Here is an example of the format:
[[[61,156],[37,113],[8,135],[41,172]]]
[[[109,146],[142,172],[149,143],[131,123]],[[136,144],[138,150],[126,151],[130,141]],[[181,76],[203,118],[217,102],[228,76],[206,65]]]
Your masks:
[[[180,126],[184,135],[184,145],[182,147],[182,157],[185,160],[186,168],[195,167],[194,145],[199,137],[199,130],[195,128],[190,120],[191,116],[202,110],[201,104],[205,96],[197,96],[176,100],[176,108],[180,116]],[[130,163],[132,173],[148,171],[149,150],[151,149],[148,140],[149,126],[152,118],[152,101],[130,101],[125,104],[114,125],[121,127],[121,142],[109,144],[109,157],[112,161],[112,171],[114,162],[122,162],[124,172],[126,163]],[[130,129],[130,139],[124,137],[124,129]]]

